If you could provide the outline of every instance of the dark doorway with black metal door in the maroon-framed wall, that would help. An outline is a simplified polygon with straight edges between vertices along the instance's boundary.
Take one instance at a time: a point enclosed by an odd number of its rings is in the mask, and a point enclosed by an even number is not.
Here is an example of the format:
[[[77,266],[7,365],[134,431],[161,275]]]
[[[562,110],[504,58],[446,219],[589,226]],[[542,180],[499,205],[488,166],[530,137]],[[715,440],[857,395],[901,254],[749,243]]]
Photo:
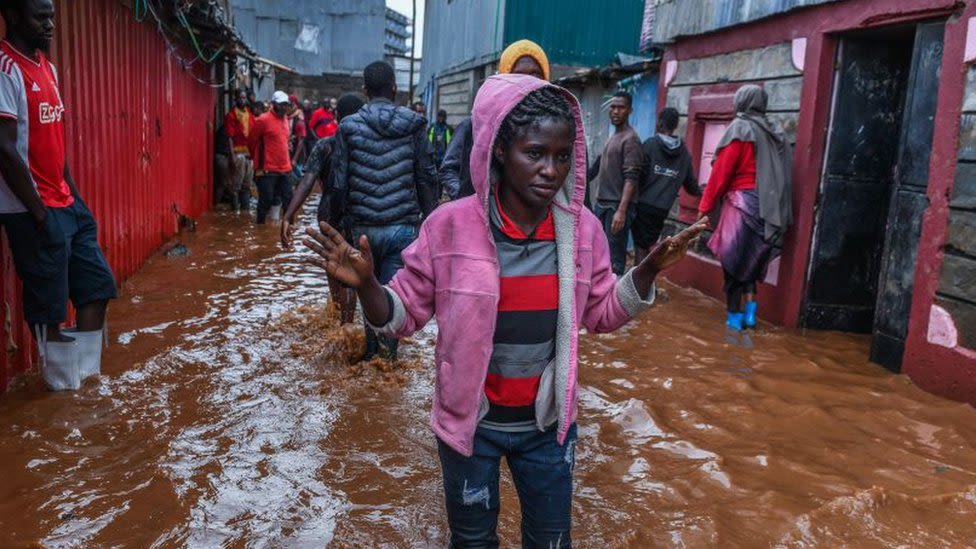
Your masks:
[[[872,360],[895,371],[928,206],[943,27],[850,34],[838,49],[802,323],[873,334]]]

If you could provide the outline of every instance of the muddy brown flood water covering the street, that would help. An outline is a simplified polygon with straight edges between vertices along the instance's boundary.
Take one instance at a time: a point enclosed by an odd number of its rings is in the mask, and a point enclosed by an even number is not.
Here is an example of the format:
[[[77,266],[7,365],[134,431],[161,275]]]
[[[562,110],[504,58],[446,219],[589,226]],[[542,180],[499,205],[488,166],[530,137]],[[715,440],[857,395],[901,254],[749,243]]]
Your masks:
[[[276,227],[215,214],[183,242],[113,304],[100,379],[0,396],[0,547],[445,546],[433,326],[405,364],[350,366],[358,330]],[[583,338],[577,546],[976,545],[976,410],[864,337],[730,340],[719,303],[665,291]]]

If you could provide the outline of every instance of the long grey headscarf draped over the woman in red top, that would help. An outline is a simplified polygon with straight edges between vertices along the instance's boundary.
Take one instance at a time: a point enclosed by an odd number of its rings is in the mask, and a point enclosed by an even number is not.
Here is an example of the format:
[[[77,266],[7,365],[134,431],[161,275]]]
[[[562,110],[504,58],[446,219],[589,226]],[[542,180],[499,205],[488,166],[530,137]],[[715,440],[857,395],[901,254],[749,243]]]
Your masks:
[[[783,235],[793,224],[793,150],[783,132],[766,118],[766,91],[748,84],[735,92],[735,120],[715,149],[715,155],[733,141],[747,141],[756,148],[756,194],[763,237],[782,245]]]

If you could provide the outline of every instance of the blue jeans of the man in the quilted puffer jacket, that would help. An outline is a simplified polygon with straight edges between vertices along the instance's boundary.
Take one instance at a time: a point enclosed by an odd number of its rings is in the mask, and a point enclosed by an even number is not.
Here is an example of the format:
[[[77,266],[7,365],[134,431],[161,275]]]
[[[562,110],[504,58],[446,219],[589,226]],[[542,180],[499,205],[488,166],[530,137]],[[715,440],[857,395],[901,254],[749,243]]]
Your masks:
[[[403,257],[400,254],[417,239],[417,227],[413,225],[353,227],[353,245],[358,247],[359,238],[363,235],[369,239],[369,249],[373,252],[373,273],[380,284],[386,284],[393,280],[393,275],[397,271],[403,268]],[[396,360],[396,353],[396,339],[377,336],[366,325],[366,360],[377,354],[383,358]]]

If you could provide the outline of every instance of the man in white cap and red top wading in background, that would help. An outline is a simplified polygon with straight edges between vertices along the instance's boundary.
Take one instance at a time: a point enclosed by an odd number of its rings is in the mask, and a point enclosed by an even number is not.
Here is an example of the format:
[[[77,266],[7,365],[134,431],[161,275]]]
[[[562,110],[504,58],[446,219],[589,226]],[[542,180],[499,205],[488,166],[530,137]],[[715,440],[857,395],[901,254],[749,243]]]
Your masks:
[[[271,96],[271,105],[270,111],[254,121],[254,129],[249,137],[258,186],[258,224],[264,223],[275,195],[281,197],[282,204],[291,202],[289,174],[292,165],[291,155],[288,154],[290,132],[287,116],[291,101],[288,94],[279,90]]]

